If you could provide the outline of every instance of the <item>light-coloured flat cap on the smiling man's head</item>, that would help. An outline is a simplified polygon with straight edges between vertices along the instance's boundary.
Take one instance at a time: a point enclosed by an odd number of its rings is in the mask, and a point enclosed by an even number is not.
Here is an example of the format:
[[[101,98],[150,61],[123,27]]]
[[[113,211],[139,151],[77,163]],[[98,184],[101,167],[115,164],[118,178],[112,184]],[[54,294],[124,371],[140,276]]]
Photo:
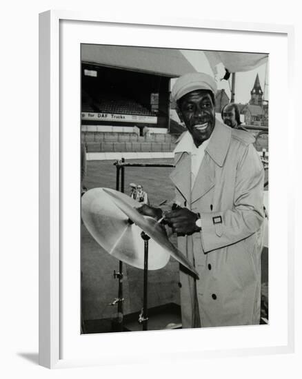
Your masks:
[[[192,72],[180,76],[172,88],[170,98],[171,108],[175,109],[177,107],[177,100],[195,90],[209,90],[215,96],[217,84],[212,76],[204,74],[203,72]]]

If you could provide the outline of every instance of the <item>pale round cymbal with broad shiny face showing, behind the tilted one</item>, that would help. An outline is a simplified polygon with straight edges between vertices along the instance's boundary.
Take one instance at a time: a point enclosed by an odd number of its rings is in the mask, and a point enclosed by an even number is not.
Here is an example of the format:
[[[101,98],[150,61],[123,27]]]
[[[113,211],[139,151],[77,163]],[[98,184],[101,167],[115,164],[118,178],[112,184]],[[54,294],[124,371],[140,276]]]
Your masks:
[[[131,209],[140,203],[121,192]],[[81,217],[88,232],[115,258],[143,269],[144,242],[141,227],[129,223],[129,217],[113,201],[103,188],[90,189],[81,198]],[[143,217],[143,216],[142,216]],[[150,223],[154,223],[150,218]],[[167,265],[170,252],[155,240],[149,240],[148,269],[161,269]]]

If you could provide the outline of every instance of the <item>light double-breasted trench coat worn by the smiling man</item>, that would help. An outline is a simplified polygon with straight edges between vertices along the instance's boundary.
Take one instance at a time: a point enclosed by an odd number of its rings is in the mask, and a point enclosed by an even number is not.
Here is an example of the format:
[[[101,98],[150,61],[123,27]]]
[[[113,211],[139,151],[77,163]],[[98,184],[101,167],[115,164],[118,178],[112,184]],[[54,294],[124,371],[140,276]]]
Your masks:
[[[183,328],[260,320],[263,178],[248,132],[216,120],[191,190],[191,155],[175,154],[176,201],[201,214],[201,232],[178,237],[199,280],[180,270]]]

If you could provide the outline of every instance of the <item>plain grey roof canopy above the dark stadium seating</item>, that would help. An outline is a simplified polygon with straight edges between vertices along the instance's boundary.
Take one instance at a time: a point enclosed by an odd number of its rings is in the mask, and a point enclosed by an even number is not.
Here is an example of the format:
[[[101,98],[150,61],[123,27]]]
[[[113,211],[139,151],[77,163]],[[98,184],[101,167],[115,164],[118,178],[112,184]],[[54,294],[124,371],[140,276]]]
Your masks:
[[[196,72],[188,59],[177,49],[83,44],[81,61],[171,78],[187,72]]]

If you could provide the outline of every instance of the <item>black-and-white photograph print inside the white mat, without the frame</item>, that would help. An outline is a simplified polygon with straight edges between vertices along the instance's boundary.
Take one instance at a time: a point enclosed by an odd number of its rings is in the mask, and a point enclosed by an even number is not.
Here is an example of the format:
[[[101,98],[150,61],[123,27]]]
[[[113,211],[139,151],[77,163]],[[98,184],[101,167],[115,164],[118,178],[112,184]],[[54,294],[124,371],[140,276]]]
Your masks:
[[[81,334],[268,325],[269,54],[81,44]]]

